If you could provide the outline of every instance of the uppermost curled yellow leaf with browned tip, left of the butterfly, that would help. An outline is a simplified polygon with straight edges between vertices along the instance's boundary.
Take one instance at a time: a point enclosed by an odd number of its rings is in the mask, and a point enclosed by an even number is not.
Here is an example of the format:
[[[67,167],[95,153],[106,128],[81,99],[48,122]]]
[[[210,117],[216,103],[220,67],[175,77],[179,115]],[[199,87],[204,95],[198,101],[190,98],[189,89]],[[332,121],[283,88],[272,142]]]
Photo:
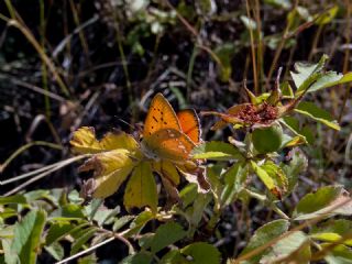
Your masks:
[[[82,127],[75,131],[69,143],[73,146],[73,151],[79,154],[95,154],[118,148],[124,148],[130,152],[139,150],[139,144],[133,136],[124,132],[110,132],[98,141],[96,139],[95,129],[91,127]]]

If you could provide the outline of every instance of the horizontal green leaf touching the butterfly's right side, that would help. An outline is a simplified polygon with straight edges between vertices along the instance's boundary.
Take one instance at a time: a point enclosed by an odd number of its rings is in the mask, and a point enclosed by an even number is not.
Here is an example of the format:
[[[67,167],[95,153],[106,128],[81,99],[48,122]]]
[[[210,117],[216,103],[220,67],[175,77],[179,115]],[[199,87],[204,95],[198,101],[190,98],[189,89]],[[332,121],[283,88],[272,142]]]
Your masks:
[[[208,158],[213,161],[229,161],[242,158],[240,151],[232,144],[211,141],[197,145],[191,155],[194,158]]]

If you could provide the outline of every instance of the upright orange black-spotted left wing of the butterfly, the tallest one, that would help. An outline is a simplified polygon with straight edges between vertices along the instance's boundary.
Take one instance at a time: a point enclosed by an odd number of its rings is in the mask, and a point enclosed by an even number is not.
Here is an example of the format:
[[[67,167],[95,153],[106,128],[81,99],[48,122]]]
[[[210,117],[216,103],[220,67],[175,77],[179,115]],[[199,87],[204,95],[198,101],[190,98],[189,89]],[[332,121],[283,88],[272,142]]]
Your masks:
[[[182,130],[174,109],[162,94],[157,94],[153,98],[146,114],[143,138],[147,139],[163,129]]]

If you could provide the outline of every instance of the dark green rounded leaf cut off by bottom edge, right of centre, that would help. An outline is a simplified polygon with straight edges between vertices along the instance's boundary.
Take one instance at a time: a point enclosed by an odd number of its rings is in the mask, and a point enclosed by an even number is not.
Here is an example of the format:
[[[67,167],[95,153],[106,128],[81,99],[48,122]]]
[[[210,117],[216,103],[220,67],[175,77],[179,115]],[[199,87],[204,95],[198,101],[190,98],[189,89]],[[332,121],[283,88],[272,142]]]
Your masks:
[[[196,242],[180,250],[184,255],[191,256],[194,264],[220,263],[220,252],[217,248],[205,242]]]

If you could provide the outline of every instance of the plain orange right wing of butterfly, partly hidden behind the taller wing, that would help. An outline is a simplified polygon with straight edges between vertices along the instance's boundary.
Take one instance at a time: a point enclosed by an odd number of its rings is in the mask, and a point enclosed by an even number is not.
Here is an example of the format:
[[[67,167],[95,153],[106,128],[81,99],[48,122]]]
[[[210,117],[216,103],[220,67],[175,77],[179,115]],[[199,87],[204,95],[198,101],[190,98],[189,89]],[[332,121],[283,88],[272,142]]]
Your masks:
[[[179,125],[189,139],[198,144],[201,136],[199,118],[194,109],[182,110],[177,113]]]

